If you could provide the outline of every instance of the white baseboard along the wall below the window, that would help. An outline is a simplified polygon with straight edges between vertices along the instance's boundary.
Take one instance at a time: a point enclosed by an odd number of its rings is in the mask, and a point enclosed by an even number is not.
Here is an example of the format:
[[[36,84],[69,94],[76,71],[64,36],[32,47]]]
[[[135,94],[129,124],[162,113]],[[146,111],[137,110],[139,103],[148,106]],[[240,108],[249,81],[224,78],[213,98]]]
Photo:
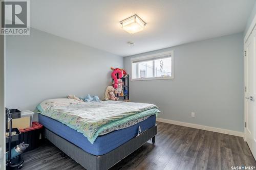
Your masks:
[[[185,126],[185,127],[189,127],[189,128],[196,128],[196,129],[202,129],[202,130],[206,130],[206,131],[212,131],[212,132],[218,132],[218,133],[224,133],[224,134],[228,134],[228,135],[244,137],[244,133],[239,132],[239,131],[232,131],[232,130],[215,128],[215,127],[210,127],[210,126],[203,126],[203,125],[198,125],[198,124],[190,124],[190,123],[179,122],[176,120],[169,120],[169,119],[164,119],[164,118],[157,118],[157,121],[167,123],[167,124],[180,125],[180,126]]]

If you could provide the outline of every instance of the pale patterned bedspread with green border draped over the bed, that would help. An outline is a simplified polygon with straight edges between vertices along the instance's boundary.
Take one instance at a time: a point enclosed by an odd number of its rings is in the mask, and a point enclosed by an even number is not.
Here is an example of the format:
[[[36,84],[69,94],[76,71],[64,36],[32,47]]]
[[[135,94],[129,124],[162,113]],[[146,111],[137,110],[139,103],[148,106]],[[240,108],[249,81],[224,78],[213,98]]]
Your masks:
[[[72,101],[72,102],[70,102]],[[40,114],[77,130],[93,143],[99,134],[134,119],[159,113],[153,104],[132,102],[77,102],[47,100],[37,106]]]

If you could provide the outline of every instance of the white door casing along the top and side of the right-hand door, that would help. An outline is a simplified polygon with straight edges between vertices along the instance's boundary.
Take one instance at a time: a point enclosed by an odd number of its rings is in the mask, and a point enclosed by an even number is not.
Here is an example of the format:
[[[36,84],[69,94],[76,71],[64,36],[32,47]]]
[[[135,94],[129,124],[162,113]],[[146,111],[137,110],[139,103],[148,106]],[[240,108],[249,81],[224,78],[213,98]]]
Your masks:
[[[245,37],[244,37],[244,124],[246,124],[246,119],[247,119],[247,114],[246,114],[246,99],[245,99],[245,87],[246,87],[246,57],[245,57],[245,53],[246,53],[246,41],[248,40],[248,38],[250,37],[250,35],[252,34],[253,30],[255,29],[256,27],[256,14],[254,15],[254,18],[251,22],[251,25],[249,27],[249,29],[247,30],[246,34],[245,34]],[[246,141],[246,137],[247,137],[247,134],[246,134],[246,127],[244,126],[244,140]]]

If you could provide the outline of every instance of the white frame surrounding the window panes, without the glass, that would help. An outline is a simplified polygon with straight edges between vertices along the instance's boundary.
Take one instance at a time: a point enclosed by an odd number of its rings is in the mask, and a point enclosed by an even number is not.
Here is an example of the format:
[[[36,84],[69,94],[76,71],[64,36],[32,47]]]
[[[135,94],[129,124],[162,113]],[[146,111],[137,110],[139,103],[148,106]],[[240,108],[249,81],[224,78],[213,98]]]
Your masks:
[[[139,62],[139,61],[146,61],[146,60],[153,60],[153,59],[158,59],[161,57],[171,57],[172,61],[172,76],[170,77],[153,77],[153,78],[139,78],[139,79],[133,79],[133,62]],[[153,70],[154,71],[154,70]],[[164,80],[164,79],[174,79],[174,51],[167,51],[167,52],[162,52],[162,53],[156,53],[156,54],[151,54],[151,55],[146,55],[142,57],[136,57],[136,58],[131,58],[131,81],[141,81],[141,80]]]

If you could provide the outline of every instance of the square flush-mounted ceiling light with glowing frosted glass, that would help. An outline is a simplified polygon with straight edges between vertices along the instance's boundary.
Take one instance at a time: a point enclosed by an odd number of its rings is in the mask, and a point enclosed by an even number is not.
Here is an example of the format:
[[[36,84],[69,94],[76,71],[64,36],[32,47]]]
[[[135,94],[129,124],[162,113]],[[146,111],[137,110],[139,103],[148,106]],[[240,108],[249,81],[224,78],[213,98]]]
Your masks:
[[[130,34],[137,33],[144,30],[146,22],[144,22],[138,15],[133,15],[127,19],[120,21],[124,31]]]

